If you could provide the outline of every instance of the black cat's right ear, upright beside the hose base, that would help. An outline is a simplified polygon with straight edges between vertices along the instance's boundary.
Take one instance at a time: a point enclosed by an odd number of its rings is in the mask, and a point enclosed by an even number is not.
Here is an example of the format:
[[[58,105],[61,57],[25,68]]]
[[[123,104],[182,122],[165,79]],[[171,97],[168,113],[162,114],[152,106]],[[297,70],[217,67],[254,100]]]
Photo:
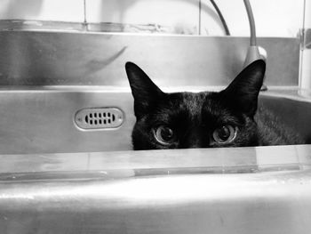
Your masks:
[[[223,99],[235,109],[253,117],[257,110],[258,95],[265,71],[265,61],[253,61],[221,92]]]

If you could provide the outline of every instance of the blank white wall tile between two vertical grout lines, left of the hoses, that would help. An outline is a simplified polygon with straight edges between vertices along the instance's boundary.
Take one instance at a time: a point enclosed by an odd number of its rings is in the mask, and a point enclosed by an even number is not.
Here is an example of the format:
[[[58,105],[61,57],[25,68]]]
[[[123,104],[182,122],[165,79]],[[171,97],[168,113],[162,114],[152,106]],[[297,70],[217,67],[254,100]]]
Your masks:
[[[199,0],[87,0],[89,22],[156,24],[194,34],[199,27]]]

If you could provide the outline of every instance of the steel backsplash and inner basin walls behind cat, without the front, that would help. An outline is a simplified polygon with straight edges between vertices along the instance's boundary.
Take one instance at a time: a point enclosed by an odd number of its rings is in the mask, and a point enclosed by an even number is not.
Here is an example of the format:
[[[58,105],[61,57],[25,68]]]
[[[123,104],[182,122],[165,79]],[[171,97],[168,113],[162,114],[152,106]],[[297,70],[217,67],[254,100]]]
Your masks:
[[[38,28],[0,31],[0,154],[132,149],[135,118],[126,61],[138,63],[169,92],[219,89],[242,69],[248,41]],[[265,84],[271,91],[262,101],[309,141],[305,124],[310,99],[297,101],[299,38],[260,37],[259,45],[268,54]],[[275,85],[278,98],[272,97]],[[92,130],[76,126],[78,111],[99,108],[120,109],[123,125]],[[299,121],[293,123],[294,115]]]

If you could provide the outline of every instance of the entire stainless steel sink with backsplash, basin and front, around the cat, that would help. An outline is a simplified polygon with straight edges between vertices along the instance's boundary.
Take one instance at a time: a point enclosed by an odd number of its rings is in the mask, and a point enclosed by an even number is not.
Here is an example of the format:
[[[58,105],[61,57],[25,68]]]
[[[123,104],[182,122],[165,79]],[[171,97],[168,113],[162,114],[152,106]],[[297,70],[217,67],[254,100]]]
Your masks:
[[[132,151],[125,61],[167,92],[219,90],[247,43],[0,31],[0,233],[308,234],[310,145]],[[310,143],[299,39],[259,44],[268,53],[260,104]],[[85,109],[119,109],[122,125],[84,129]]]

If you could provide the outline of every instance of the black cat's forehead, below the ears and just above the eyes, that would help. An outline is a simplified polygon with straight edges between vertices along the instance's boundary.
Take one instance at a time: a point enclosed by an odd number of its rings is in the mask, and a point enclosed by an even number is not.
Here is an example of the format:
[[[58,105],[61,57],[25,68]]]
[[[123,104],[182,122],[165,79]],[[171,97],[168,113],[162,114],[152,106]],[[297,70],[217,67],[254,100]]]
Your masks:
[[[233,113],[221,104],[219,93],[168,93],[159,101],[150,121],[168,125],[218,125],[237,122]]]

